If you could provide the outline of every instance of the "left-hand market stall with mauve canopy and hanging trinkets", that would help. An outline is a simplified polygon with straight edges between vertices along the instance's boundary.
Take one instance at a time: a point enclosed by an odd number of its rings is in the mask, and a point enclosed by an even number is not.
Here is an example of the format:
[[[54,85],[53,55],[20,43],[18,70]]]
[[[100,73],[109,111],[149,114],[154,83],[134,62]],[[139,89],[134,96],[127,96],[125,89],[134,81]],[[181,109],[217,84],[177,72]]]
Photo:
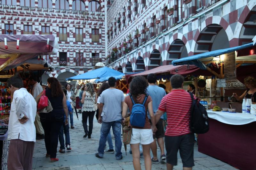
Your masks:
[[[2,149],[1,169],[7,169],[9,142],[8,125],[3,118],[9,117],[12,96],[6,86],[8,78],[20,75],[26,82],[25,74],[33,71],[51,71],[53,67],[43,55],[55,54],[58,41],[54,35],[0,35],[0,148]],[[35,58],[36,57],[36,58]]]

